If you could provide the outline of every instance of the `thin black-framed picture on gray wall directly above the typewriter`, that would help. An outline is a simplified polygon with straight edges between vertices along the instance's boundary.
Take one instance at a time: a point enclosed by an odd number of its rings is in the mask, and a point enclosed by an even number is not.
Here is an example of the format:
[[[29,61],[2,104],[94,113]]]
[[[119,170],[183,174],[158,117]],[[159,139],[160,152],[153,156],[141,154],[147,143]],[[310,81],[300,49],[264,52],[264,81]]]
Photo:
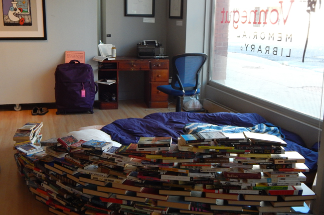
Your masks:
[[[125,16],[154,16],[155,0],[125,0]]]

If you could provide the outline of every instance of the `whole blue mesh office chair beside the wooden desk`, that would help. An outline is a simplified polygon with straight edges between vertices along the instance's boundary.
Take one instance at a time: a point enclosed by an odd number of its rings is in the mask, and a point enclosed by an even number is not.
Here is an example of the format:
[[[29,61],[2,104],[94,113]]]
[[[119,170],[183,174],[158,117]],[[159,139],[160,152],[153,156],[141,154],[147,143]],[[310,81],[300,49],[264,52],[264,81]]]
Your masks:
[[[157,89],[165,94],[176,96],[175,111],[181,111],[181,98],[195,96],[200,93],[200,70],[208,55],[203,53],[186,53],[172,58],[171,85],[158,86]]]

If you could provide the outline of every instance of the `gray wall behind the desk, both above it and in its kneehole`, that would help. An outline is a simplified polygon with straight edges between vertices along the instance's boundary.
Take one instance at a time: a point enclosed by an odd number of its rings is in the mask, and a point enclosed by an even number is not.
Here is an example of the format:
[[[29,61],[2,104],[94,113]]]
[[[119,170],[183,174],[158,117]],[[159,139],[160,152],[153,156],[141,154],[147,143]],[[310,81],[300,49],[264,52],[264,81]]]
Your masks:
[[[143,22],[144,17],[124,16],[124,0],[103,0],[102,41],[115,45],[118,56],[136,56],[139,42],[157,40],[167,54],[167,4],[166,0],[155,1],[155,16],[148,17],[154,18],[155,23],[149,23]],[[119,73],[119,99],[144,99],[144,72]]]

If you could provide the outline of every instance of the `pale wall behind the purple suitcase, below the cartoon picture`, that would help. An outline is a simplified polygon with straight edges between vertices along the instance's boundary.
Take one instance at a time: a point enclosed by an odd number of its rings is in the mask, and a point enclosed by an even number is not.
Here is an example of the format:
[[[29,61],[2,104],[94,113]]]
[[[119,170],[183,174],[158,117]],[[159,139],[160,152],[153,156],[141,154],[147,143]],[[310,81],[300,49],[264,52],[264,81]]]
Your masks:
[[[96,66],[97,0],[46,0],[47,40],[0,40],[0,105],[55,102],[54,71],[65,51]]]

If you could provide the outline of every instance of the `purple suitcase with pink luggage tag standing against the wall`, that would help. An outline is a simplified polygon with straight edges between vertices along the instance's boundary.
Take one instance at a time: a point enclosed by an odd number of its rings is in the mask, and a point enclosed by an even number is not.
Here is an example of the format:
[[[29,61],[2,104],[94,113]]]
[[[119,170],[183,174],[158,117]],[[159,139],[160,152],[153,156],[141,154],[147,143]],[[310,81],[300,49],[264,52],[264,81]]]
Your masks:
[[[93,113],[97,92],[98,85],[94,82],[93,70],[89,64],[71,60],[70,63],[57,65],[55,70],[56,114],[85,111]]]

